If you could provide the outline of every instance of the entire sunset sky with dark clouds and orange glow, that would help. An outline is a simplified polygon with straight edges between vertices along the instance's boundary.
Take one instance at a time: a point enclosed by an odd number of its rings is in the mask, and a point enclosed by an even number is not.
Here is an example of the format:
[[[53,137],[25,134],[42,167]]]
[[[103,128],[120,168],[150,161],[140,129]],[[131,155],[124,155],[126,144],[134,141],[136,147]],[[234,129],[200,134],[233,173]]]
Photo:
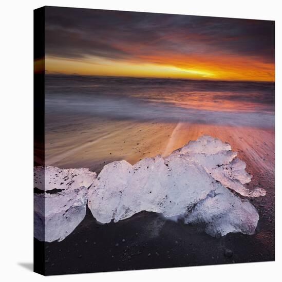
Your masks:
[[[274,81],[271,21],[48,9],[47,73]]]

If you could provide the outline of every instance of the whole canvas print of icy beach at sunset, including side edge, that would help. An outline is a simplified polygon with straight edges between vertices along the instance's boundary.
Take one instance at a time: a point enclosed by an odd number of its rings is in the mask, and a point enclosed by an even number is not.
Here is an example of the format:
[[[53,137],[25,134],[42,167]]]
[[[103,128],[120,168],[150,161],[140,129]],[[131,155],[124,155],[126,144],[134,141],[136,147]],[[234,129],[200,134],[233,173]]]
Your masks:
[[[34,11],[34,270],[270,261],[274,22]]]

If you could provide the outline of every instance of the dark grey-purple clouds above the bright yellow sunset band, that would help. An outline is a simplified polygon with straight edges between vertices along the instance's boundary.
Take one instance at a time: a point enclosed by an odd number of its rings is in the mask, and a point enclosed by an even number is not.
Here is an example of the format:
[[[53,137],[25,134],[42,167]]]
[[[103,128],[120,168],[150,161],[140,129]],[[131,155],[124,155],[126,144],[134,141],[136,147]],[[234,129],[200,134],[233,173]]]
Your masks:
[[[273,63],[274,22],[46,7],[46,53],[132,61],[154,61],[159,54],[227,54]]]

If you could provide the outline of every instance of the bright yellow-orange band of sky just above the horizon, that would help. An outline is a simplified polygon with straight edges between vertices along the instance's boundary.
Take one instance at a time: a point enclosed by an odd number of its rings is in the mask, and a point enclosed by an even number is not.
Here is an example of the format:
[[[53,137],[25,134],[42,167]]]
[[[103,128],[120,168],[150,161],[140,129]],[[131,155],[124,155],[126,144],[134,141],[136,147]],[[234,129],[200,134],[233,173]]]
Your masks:
[[[255,59],[158,58],[157,63],[131,62],[100,57],[70,59],[46,56],[45,70],[48,73],[108,75],[135,77],[171,77],[213,80],[274,81],[274,66]]]

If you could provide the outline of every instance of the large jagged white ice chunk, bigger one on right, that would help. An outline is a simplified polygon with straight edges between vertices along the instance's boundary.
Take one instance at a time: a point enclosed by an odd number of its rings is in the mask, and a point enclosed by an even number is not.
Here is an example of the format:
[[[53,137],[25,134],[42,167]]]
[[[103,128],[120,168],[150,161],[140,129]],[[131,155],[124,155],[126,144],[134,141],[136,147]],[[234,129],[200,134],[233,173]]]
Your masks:
[[[236,156],[229,144],[202,136],[165,158],[145,158],[133,166],[125,160],[110,163],[89,189],[88,207],[101,223],[153,211],[205,223],[212,236],[253,234],[256,209],[227,189],[251,194],[243,186],[251,176]]]

